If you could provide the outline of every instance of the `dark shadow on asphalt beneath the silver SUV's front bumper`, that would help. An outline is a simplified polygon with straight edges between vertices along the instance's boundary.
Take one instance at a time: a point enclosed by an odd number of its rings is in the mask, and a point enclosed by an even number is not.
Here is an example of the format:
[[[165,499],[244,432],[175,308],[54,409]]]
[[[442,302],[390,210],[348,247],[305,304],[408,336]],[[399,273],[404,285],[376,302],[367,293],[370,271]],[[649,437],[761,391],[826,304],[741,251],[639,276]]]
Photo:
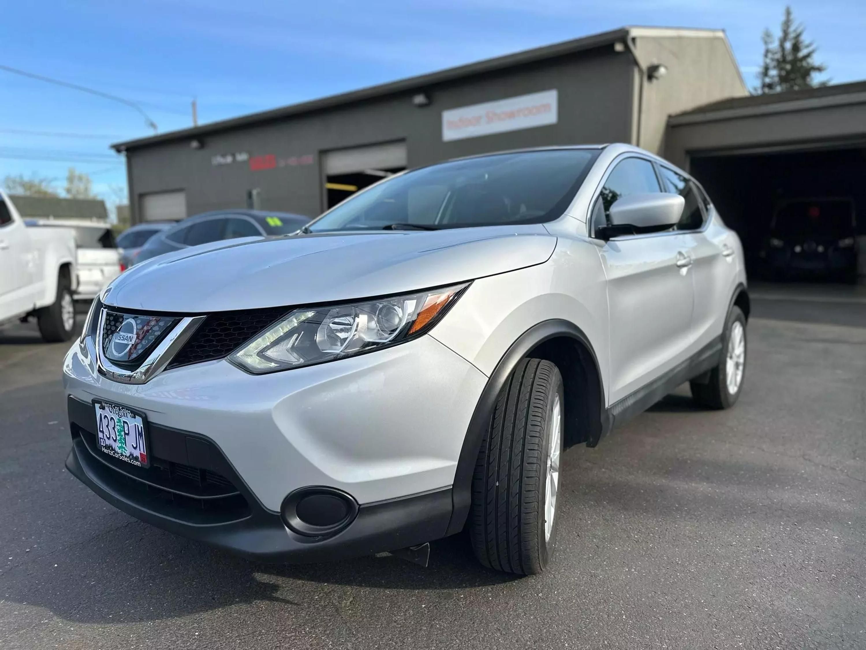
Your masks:
[[[42,618],[45,608],[75,623],[137,623],[255,602],[318,607],[316,599],[341,586],[350,594],[460,590],[518,579],[478,565],[462,535],[433,543],[427,568],[393,556],[288,565],[251,562],[113,510],[100,522],[110,528],[0,570],[0,604],[26,605]]]

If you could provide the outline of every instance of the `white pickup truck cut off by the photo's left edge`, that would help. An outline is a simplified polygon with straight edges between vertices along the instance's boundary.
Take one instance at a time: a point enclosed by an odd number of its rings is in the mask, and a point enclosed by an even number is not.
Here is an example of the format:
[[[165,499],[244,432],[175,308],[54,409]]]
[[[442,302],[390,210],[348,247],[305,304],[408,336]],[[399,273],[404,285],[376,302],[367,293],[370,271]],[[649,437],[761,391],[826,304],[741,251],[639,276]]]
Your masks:
[[[0,190],[0,326],[35,315],[45,341],[68,341],[77,282],[74,232],[27,228]]]

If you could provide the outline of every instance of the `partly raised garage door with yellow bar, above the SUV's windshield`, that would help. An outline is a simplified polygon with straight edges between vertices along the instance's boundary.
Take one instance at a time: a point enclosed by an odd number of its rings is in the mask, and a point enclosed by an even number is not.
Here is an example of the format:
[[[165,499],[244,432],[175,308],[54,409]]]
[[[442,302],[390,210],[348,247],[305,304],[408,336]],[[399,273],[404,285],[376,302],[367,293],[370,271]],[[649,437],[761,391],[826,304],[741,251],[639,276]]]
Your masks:
[[[406,143],[337,149],[322,155],[325,171],[326,208],[363,190],[378,180],[406,168]]]

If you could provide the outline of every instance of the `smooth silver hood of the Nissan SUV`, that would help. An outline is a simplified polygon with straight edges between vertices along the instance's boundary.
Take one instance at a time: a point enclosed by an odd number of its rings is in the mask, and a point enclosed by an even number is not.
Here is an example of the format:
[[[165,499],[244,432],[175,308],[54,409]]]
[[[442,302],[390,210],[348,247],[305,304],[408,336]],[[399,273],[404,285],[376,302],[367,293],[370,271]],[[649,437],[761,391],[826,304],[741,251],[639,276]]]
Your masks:
[[[147,260],[102,299],[187,314],[348,301],[533,266],[555,246],[540,224],[235,239]]]

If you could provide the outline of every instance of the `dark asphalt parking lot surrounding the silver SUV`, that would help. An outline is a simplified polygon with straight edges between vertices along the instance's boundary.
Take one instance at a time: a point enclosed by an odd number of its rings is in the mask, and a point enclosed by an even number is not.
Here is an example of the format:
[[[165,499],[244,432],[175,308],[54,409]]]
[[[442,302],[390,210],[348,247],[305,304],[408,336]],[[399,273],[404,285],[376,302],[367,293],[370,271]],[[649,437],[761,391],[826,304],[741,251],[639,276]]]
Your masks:
[[[0,647],[866,647],[866,298],[754,291],[740,402],[686,387],[565,454],[557,554],[481,569],[456,536],[256,564],[69,476],[66,344],[0,333]]]

